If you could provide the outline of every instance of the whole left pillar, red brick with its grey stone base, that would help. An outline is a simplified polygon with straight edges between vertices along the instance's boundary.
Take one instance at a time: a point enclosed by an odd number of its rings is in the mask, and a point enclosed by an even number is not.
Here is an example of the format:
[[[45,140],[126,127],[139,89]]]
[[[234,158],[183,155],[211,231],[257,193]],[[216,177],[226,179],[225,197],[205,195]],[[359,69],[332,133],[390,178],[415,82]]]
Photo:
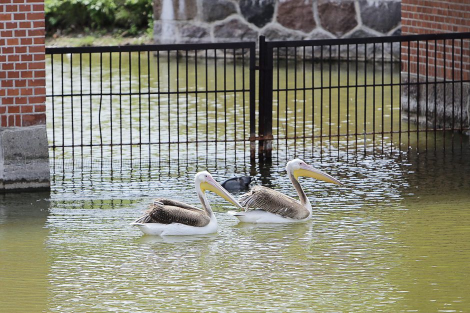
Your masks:
[[[0,191],[50,186],[44,1],[0,2]]]

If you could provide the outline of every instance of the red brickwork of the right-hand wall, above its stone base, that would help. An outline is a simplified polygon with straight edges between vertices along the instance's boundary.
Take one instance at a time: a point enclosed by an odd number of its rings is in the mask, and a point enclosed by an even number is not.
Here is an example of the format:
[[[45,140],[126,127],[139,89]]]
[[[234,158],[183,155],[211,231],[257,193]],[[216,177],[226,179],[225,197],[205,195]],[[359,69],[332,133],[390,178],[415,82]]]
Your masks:
[[[422,34],[439,32],[470,31],[470,0],[402,0],[401,1],[401,32],[403,34]],[[453,44],[453,47],[452,47]],[[463,50],[460,50],[461,45]],[[409,72],[418,73],[417,42],[410,42]],[[460,39],[438,40],[427,42],[428,72],[431,77],[446,79],[469,79],[470,77],[470,40]],[[453,50],[453,57],[452,57]],[[444,53],[445,52],[445,53]],[[437,60],[434,60],[437,53]],[[462,55],[462,58],[460,58]],[[408,71],[408,46],[404,42],[401,49],[401,69]],[[453,62],[453,64],[452,64]],[[436,64],[434,64],[436,63]],[[426,74],[426,42],[419,42],[419,74]],[[452,65],[454,70],[452,72]],[[461,68],[463,70],[461,70]]]

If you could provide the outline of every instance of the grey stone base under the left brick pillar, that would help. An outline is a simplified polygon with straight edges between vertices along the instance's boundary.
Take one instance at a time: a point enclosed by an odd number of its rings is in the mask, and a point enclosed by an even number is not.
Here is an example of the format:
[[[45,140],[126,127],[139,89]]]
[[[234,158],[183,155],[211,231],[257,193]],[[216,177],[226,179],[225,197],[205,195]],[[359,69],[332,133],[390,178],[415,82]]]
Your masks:
[[[50,189],[45,125],[0,128],[0,192]]]

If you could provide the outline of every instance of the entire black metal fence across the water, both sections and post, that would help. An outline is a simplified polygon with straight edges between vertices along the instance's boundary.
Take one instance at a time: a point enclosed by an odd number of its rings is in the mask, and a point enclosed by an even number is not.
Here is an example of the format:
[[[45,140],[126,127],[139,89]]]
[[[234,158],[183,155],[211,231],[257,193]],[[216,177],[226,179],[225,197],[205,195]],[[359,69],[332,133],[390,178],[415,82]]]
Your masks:
[[[255,42],[46,54],[54,157],[187,159],[234,151],[254,159],[255,141],[260,159],[289,149],[384,153],[445,148],[446,132],[453,138],[468,129],[470,33],[261,37],[258,66]]]

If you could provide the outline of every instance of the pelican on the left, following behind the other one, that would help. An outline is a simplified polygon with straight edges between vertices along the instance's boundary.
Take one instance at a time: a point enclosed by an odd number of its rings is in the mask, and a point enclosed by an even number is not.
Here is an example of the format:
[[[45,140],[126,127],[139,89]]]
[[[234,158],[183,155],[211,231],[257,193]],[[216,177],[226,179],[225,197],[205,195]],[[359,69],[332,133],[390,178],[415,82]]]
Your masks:
[[[152,235],[197,235],[217,231],[217,220],[205,196],[205,190],[215,192],[228,202],[243,208],[207,171],[197,172],[194,186],[202,209],[184,202],[158,198],[131,225]]]

